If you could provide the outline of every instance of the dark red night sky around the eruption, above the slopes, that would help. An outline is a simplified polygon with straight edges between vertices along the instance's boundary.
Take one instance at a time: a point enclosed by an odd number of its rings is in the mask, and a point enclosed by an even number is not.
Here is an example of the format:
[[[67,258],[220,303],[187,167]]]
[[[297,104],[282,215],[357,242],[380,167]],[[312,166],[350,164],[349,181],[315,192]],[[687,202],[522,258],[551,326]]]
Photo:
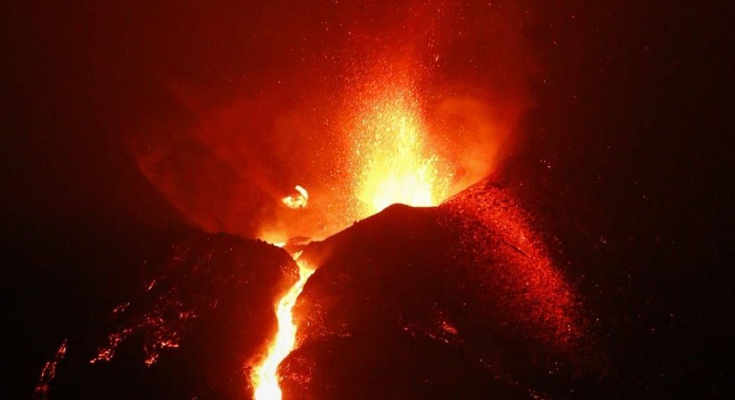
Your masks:
[[[9,398],[31,396],[66,332],[128,296],[160,244],[196,228],[257,236],[271,197],[321,184],[339,159],[325,121],[376,59],[431,65],[417,79],[430,108],[492,104],[505,133],[488,174],[598,319],[604,397],[729,397],[731,5],[13,3],[0,11]],[[227,160],[240,132],[247,150]],[[141,172],[176,146],[161,175]]]

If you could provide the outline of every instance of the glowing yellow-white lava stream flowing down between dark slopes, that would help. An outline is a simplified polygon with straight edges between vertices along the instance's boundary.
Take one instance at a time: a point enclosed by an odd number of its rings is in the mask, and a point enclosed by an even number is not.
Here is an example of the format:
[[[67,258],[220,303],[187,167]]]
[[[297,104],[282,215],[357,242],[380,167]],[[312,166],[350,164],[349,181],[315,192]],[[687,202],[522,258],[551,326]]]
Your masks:
[[[296,344],[296,325],[293,323],[293,306],[304,290],[306,280],[315,269],[305,261],[298,261],[298,281],[284,294],[276,305],[278,333],[268,349],[268,357],[256,368],[254,373],[255,400],[280,400],[282,393],[279,387],[278,366],[293,351]]]

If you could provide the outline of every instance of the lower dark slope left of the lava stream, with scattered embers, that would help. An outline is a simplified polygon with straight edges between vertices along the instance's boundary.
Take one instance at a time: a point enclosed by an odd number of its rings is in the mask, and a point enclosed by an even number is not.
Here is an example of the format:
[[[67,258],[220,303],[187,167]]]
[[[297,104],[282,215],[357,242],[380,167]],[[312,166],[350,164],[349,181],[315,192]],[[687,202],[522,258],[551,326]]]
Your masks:
[[[68,338],[38,397],[252,397],[248,365],[275,332],[273,304],[298,267],[282,249],[224,233],[198,233],[169,251],[107,327],[90,321]]]

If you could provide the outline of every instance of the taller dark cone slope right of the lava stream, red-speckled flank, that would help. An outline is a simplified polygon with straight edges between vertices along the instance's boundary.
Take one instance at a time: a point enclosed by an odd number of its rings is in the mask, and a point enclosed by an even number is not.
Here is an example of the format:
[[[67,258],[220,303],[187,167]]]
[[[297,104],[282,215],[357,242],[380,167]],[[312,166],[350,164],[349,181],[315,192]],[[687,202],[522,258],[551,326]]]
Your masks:
[[[568,396],[590,367],[586,324],[529,222],[486,181],[309,244],[319,269],[295,311],[304,342],[282,366],[285,396]]]

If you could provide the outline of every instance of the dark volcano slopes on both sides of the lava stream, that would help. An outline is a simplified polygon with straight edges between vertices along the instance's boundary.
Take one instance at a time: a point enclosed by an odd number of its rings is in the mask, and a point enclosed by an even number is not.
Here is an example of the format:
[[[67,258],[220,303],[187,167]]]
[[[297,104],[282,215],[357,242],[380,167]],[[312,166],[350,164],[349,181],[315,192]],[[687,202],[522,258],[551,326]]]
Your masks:
[[[394,205],[324,241],[290,241],[318,270],[295,306],[284,399],[568,397],[591,341],[533,228],[484,181],[438,207]],[[298,266],[224,233],[162,253],[137,296],[49,354],[37,397],[252,398],[251,368]]]

